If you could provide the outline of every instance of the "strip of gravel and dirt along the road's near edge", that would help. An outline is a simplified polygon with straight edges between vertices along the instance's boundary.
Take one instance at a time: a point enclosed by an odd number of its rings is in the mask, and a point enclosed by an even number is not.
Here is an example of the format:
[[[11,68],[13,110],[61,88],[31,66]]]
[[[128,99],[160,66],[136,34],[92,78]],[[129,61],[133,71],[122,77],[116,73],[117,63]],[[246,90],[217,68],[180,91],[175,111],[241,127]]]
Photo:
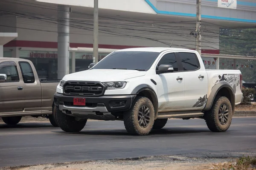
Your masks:
[[[115,160],[79,161],[33,166],[3,167],[0,170],[209,170],[215,164],[234,161],[246,153],[192,153],[176,156],[151,156]]]

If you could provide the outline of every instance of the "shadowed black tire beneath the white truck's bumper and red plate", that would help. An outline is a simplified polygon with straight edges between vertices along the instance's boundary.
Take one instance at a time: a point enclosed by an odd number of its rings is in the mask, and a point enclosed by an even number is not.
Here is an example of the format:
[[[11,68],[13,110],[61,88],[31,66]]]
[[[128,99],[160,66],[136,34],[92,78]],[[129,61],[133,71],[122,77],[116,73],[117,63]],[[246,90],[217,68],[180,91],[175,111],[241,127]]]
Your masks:
[[[65,132],[79,132],[84,128],[87,122],[87,119],[77,121],[75,117],[62,113],[58,108],[56,117],[59,127]]]

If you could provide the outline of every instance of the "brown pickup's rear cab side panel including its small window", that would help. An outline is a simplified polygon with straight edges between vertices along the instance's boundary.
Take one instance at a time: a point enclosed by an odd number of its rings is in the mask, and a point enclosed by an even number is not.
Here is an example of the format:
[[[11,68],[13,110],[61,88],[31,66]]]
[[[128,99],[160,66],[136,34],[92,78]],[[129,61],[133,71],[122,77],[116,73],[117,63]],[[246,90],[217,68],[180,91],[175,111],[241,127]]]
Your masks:
[[[19,62],[22,79],[24,82],[24,100],[26,111],[41,111],[42,105],[42,88],[38,79],[35,67],[27,61]]]

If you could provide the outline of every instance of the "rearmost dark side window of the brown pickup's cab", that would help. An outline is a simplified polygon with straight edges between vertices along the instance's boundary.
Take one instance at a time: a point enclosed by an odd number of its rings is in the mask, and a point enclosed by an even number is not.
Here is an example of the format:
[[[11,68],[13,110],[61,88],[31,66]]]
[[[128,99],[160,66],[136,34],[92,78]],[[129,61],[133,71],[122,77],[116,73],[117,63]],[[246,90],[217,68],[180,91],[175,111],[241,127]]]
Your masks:
[[[25,83],[35,82],[35,76],[33,70],[28,62],[19,62],[20,69]]]

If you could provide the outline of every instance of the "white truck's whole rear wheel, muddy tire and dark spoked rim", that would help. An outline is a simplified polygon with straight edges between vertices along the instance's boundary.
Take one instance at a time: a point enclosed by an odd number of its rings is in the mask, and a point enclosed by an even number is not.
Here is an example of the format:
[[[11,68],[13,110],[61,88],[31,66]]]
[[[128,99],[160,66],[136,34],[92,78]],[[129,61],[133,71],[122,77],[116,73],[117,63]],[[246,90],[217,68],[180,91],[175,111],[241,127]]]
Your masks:
[[[231,125],[232,105],[225,96],[215,98],[212,108],[205,113],[207,127],[212,132],[225,132]]]

